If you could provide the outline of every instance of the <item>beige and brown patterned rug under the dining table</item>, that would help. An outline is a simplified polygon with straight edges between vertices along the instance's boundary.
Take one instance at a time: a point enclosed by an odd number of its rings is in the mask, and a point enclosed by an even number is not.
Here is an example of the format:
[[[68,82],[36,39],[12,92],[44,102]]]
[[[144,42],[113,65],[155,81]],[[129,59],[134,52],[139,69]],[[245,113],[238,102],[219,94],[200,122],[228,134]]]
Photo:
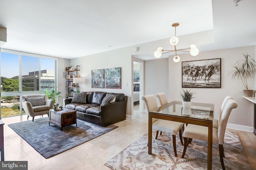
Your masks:
[[[148,134],[140,137],[104,165],[112,170],[205,170],[207,169],[207,142],[193,139],[185,157],[183,146],[176,137],[177,154],[174,156],[172,138],[162,133],[152,140],[152,155],[148,154]],[[224,140],[226,170],[250,170],[250,164],[237,133],[226,131]],[[222,169],[218,145],[212,146],[212,169]]]

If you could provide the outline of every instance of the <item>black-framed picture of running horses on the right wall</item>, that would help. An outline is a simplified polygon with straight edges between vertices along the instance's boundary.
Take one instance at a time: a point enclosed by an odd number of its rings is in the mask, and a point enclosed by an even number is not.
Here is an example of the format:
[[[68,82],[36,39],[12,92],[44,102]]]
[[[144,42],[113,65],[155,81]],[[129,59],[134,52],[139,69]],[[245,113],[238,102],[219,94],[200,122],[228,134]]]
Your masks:
[[[220,58],[182,62],[182,88],[220,88]]]

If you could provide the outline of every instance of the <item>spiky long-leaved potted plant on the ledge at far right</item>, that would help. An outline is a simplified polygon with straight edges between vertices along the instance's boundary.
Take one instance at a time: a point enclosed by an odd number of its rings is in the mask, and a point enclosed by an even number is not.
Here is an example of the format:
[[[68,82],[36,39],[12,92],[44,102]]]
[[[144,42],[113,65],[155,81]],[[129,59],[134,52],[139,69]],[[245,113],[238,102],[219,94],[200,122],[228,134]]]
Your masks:
[[[256,70],[256,62],[254,59],[251,58],[250,55],[243,55],[244,59],[238,60],[233,66],[234,70],[232,71],[232,78],[238,78],[242,81],[242,84],[246,88],[244,90],[244,96],[252,96],[253,90],[248,89],[247,79],[254,75],[254,72]]]

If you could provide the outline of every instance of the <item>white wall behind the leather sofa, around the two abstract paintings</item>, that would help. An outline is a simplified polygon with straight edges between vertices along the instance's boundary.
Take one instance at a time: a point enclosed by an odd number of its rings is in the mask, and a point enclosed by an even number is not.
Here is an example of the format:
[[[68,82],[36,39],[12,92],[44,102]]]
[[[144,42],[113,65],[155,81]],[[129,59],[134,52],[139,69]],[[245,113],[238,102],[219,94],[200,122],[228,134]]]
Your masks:
[[[128,96],[126,118],[132,119],[133,105],[131,103],[132,96],[132,55],[133,49],[126,47],[103,53],[88,55],[71,59],[71,65],[80,65],[80,77],[84,82],[80,83],[80,91],[100,91],[100,92],[113,92],[124,93]],[[91,85],[91,70],[121,67],[121,89],[106,89],[106,88],[92,88]],[[126,83],[128,86],[126,86]]]

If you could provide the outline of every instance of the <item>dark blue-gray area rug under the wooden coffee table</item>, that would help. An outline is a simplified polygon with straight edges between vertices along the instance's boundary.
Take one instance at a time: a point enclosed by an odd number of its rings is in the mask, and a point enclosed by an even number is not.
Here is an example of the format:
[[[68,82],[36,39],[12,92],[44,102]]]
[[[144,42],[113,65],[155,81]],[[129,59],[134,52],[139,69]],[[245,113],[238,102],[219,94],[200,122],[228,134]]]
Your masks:
[[[49,125],[48,117],[35,119],[34,122],[30,120],[8,126],[45,158],[76,147],[118,127],[116,125],[101,127],[77,119],[77,127],[74,124],[63,127],[63,131],[61,131],[60,127],[52,123]]]

